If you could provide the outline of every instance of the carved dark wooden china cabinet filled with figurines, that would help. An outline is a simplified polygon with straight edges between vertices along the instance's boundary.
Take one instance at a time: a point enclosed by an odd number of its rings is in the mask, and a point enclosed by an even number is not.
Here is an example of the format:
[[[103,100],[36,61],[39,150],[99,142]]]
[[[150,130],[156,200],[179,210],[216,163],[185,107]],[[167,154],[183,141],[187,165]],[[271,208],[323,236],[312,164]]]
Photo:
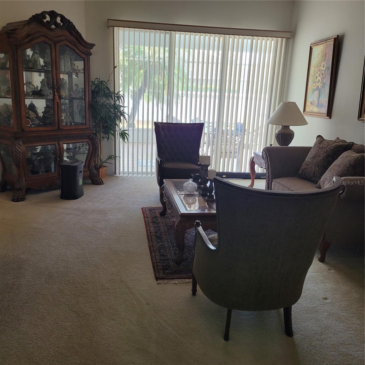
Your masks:
[[[59,187],[62,161],[84,161],[84,176],[103,184],[88,108],[93,46],[55,11],[1,29],[0,192],[14,187],[12,201],[26,188]]]

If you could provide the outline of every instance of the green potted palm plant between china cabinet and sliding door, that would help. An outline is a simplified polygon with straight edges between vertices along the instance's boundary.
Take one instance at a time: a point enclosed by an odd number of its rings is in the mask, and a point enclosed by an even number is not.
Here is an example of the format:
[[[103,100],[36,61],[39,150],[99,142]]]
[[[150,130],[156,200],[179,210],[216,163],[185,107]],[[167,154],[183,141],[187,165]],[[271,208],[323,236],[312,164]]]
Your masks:
[[[115,66],[116,67],[116,66]],[[112,72],[113,73],[113,72]],[[99,172],[99,177],[104,178],[107,174],[106,163],[109,160],[116,160],[116,156],[108,155],[103,160],[103,140],[109,141],[111,138],[115,141],[115,137],[119,135],[123,142],[128,141],[128,132],[123,129],[124,122],[127,121],[124,112],[124,95],[120,91],[113,91],[109,88],[108,83],[111,81],[111,74],[108,80],[100,80],[100,77],[91,81],[91,119],[94,134],[99,139],[99,151],[95,158],[95,169]]]

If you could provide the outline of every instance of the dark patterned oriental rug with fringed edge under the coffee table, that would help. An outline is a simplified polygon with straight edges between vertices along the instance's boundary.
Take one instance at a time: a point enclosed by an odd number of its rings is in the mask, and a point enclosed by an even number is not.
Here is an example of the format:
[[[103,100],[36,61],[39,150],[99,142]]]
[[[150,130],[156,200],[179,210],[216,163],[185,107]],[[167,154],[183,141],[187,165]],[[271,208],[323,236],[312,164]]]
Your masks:
[[[145,220],[147,242],[151,255],[153,272],[158,284],[188,283],[192,278],[194,255],[194,228],[185,233],[185,250],[183,261],[176,264],[178,250],[174,240],[175,223],[169,212],[160,216],[160,207],[142,207]],[[212,230],[205,232],[208,236],[215,234]]]

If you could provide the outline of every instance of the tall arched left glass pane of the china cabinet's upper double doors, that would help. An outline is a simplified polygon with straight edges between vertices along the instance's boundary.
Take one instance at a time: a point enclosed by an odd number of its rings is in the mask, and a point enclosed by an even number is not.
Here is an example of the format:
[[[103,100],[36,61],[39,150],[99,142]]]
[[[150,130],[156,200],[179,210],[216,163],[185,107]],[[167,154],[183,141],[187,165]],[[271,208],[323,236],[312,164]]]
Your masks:
[[[51,46],[34,43],[22,50],[26,127],[55,127]]]

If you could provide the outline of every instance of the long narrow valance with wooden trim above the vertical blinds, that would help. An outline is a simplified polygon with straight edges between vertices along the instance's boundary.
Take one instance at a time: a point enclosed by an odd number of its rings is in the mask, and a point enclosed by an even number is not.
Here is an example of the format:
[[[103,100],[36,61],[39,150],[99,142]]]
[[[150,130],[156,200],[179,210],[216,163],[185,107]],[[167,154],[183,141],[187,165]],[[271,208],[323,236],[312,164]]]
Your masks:
[[[224,28],[207,27],[185,24],[136,22],[132,20],[108,19],[108,27],[137,28],[149,30],[163,30],[176,32],[192,32],[205,34],[224,34],[224,35],[246,35],[251,37],[275,37],[290,38],[291,31],[284,30],[264,30],[264,29],[244,29],[244,28]]]

